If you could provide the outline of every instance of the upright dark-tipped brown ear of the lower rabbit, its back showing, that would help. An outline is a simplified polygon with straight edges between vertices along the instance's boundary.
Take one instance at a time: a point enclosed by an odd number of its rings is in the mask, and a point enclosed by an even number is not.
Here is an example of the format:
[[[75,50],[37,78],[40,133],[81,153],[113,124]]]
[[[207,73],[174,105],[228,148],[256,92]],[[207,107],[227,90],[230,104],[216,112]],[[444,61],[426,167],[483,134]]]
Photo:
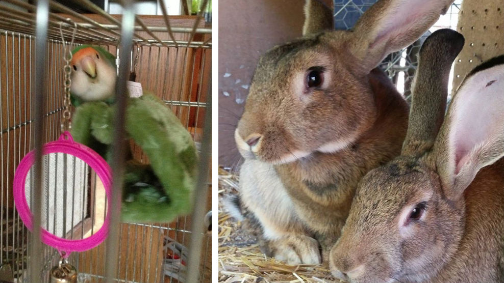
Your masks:
[[[427,37],[420,48],[402,155],[419,157],[434,145],[444,119],[451,64],[463,46],[461,34],[442,29]]]

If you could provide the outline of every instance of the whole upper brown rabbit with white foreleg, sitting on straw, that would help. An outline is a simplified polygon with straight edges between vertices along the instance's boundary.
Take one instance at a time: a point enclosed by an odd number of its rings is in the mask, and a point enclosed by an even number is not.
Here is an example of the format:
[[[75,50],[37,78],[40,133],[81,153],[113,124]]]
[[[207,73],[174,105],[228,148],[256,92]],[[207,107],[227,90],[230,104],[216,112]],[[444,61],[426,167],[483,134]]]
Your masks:
[[[261,57],[235,139],[245,158],[241,204],[269,256],[319,263],[319,244],[327,256],[358,181],[397,156],[406,133],[407,104],[375,67],[451,2],[381,0],[354,30],[323,32],[332,13],[307,1],[305,37]]]

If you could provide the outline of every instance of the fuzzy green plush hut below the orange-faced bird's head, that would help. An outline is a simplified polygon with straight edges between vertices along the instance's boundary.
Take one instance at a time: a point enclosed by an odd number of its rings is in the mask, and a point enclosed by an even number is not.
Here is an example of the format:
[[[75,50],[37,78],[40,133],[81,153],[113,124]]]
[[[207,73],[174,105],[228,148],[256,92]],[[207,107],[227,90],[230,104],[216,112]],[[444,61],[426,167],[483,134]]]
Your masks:
[[[73,116],[72,136],[110,161],[115,105],[84,102]],[[154,95],[129,98],[125,128],[150,160],[127,163],[122,220],[169,222],[191,210],[198,158],[190,133]]]

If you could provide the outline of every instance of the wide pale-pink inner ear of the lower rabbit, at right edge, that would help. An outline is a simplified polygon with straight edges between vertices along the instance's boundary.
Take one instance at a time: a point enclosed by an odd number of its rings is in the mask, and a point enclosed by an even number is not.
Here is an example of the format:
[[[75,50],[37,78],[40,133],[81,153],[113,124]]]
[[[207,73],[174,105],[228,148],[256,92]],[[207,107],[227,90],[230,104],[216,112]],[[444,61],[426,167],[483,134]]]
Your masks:
[[[453,97],[436,139],[438,173],[456,199],[480,168],[504,156],[504,55],[474,69]]]

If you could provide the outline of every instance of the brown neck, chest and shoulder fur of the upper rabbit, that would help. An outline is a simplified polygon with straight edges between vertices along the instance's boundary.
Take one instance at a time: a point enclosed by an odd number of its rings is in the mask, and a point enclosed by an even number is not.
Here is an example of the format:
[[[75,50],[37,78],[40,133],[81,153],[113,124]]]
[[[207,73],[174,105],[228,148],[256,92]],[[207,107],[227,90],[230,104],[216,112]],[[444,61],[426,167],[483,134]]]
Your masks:
[[[357,182],[370,169],[395,157],[408,123],[407,105],[380,70],[369,75],[375,92],[377,119],[348,148],[333,154],[315,152],[310,158],[276,165],[301,220],[308,223],[328,251],[339,237]],[[390,127],[397,123],[396,127]]]

